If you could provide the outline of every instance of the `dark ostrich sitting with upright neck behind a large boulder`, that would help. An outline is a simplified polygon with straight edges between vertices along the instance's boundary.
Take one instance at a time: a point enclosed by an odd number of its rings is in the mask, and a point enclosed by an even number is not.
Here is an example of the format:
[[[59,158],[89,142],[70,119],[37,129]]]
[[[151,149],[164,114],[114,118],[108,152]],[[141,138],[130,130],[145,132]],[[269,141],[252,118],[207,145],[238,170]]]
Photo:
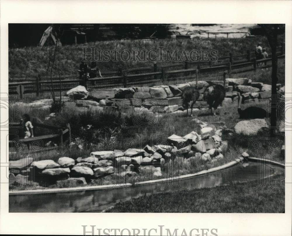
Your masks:
[[[256,106],[249,106],[248,108],[241,110],[240,104],[242,101],[242,97],[240,96],[240,93],[237,93],[238,96],[238,113],[239,113],[239,119],[261,119],[261,118],[267,118],[270,117],[271,113],[267,113],[267,111],[263,108],[259,108]]]

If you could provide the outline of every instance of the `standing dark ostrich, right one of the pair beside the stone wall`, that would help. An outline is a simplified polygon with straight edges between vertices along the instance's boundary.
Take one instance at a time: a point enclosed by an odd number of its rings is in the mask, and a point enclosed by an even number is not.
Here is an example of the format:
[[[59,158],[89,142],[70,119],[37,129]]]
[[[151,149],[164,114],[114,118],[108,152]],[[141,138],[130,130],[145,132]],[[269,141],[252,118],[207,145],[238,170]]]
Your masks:
[[[211,84],[206,87],[204,91],[204,101],[207,101],[209,108],[211,109],[211,114],[216,116],[217,107],[222,104],[225,98],[225,74],[223,77],[223,86],[218,84]],[[214,108],[214,113],[212,113],[212,107]]]

